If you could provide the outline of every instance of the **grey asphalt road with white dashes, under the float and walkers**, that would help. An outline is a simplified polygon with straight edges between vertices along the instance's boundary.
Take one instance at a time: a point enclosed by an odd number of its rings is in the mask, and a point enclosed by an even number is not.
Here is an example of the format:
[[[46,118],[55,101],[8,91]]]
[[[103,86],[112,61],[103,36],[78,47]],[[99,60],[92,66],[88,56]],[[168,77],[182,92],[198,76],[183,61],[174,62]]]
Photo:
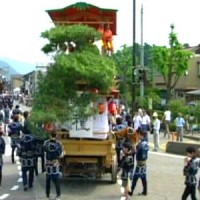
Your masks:
[[[23,110],[26,110],[26,107]],[[34,187],[26,192],[23,191],[21,179],[21,167],[19,161],[11,164],[10,141],[7,142],[4,156],[3,181],[0,188],[0,200],[44,200],[45,197],[45,174],[35,177]],[[149,153],[148,165],[148,195],[138,196],[141,192],[141,182],[138,181],[134,191],[134,200],[179,200],[184,190],[184,177],[182,173],[183,157],[163,153],[167,139],[161,135],[160,152]],[[153,149],[150,138],[151,150]],[[62,196],[64,200],[124,200],[121,180],[116,184],[110,183],[110,175],[105,175],[102,180],[73,178],[61,181]],[[55,196],[52,185],[52,197]],[[53,198],[52,198],[53,199]],[[198,199],[199,196],[198,196]]]

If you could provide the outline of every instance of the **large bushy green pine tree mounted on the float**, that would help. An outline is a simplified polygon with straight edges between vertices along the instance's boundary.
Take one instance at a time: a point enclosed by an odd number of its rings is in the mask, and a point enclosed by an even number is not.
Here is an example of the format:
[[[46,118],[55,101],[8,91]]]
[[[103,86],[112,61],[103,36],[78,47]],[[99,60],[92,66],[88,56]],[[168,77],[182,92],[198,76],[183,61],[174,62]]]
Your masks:
[[[99,33],[88,26],[72,25],[56,26],[41,36],[49,41],[42,50],[51,53],[54,62],[46,76],[40,77],[32,119],[66,121],[94,114],[89,105],[97,95],[92,91],[107,93],[116,74],[112,59],[93,45],[101,37]]]

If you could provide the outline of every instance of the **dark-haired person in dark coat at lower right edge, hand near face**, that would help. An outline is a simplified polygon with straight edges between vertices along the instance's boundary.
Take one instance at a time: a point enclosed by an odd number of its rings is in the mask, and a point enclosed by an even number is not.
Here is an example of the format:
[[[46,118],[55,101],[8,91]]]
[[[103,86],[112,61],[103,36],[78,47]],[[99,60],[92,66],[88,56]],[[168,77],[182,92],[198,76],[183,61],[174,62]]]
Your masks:
[[[187,157],[184,160],[183,174],[185,176],[185,190],[182,195],[182,200],[186,200],[190,195],[192,200],[196,198],[196,185],[199,168],[199,159],[197,159],[197,150],[194,146],[188,146],[186,148]]]

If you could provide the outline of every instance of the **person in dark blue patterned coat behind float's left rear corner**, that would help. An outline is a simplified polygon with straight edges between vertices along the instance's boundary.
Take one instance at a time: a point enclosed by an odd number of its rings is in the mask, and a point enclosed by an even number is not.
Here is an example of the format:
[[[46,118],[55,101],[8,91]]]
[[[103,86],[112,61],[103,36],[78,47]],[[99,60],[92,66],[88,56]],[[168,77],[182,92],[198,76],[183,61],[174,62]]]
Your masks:
[[[51,133],[51,138],[44,143],[44,151],[46,158],[46,196],[50,199],[51,181],[55,184],[56,200],[60,200],[60,166],[59,158],[62,155],[62,146],[56,140],[56,133]]]

